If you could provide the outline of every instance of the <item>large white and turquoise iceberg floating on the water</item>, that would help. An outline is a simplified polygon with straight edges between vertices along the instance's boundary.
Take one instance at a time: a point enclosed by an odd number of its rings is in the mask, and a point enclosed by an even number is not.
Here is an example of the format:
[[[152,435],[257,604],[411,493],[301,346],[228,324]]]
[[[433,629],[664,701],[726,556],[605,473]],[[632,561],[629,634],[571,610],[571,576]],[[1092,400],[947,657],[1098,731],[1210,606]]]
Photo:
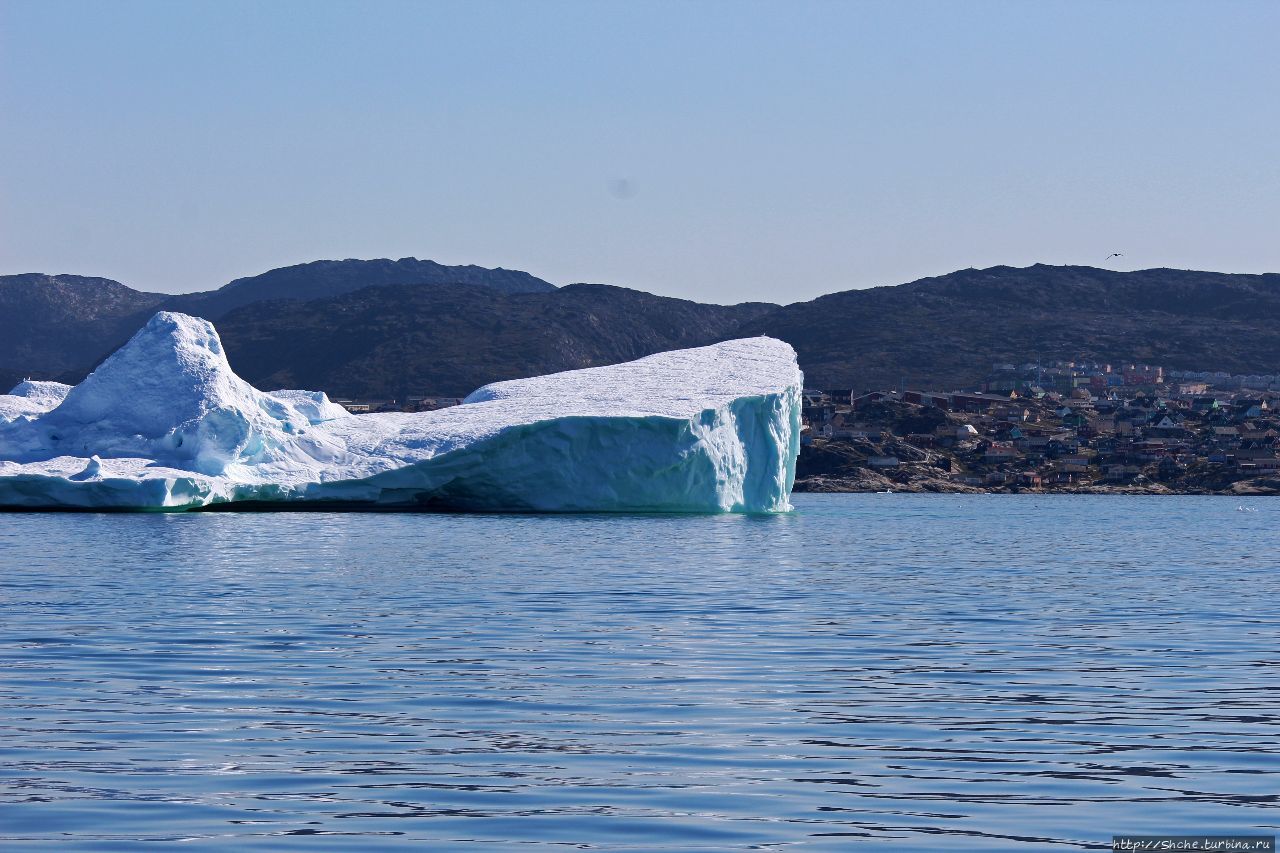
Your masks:
[[[790,346],[748,338],[351,415],[253,388],[212,324],[161,313],[74,388],[0,396],[0,507],[778,512],[800,389]]]

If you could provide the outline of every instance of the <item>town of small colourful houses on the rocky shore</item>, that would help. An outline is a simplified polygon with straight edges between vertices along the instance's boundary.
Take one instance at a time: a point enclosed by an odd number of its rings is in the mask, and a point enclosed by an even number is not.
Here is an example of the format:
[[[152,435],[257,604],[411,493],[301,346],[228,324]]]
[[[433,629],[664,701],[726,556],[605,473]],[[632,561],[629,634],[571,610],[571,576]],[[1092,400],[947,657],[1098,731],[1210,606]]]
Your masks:
[[[849,465],[977,488],[1165,483],[1216,491],[1280,473],[1280,378],[1153,365],[995,365],[977,391],[805,391],[801,443]]]

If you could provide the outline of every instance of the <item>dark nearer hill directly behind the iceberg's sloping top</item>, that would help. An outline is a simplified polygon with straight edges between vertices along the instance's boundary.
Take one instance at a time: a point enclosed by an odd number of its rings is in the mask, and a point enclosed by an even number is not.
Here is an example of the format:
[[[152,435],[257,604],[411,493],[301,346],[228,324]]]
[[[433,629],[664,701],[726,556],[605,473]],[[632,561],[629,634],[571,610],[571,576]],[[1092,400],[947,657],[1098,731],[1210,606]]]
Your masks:
[[[224,316],[232,366],[260,388],[463,396],[498,379],[591,368],[737,337],[772,305],[701,305],[605,284],[500,293],[370,287]]]

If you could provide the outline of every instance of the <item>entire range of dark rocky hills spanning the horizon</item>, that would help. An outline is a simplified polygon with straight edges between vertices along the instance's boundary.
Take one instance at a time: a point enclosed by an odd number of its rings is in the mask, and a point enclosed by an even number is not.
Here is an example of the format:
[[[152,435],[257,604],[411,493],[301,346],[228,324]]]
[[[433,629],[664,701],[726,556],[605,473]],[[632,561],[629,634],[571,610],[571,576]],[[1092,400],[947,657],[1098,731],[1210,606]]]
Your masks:
[[[1280,371],[1280,275],[995,266],[787,306],[701,305],[433,261],[316,261],[166,297],[108,279],[0,277],[0,383],[74,380],[156,309],[218,321],[262,386],[456,394],[494,379],[751,334],[812,387],[954,389],[995,361],[1148,361]]]

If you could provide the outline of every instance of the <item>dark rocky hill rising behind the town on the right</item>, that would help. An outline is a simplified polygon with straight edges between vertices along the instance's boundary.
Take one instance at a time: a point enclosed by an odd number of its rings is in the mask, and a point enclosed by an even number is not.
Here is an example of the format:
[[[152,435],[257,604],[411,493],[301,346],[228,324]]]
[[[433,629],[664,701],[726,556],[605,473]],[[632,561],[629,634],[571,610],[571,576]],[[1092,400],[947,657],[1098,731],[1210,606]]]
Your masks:
[[[1089,266],[968,269],[832,293],[751,320],[800,355],[810,386],[952,389],[996,361],[1148,361],[1280,370],[1280,274]]]

